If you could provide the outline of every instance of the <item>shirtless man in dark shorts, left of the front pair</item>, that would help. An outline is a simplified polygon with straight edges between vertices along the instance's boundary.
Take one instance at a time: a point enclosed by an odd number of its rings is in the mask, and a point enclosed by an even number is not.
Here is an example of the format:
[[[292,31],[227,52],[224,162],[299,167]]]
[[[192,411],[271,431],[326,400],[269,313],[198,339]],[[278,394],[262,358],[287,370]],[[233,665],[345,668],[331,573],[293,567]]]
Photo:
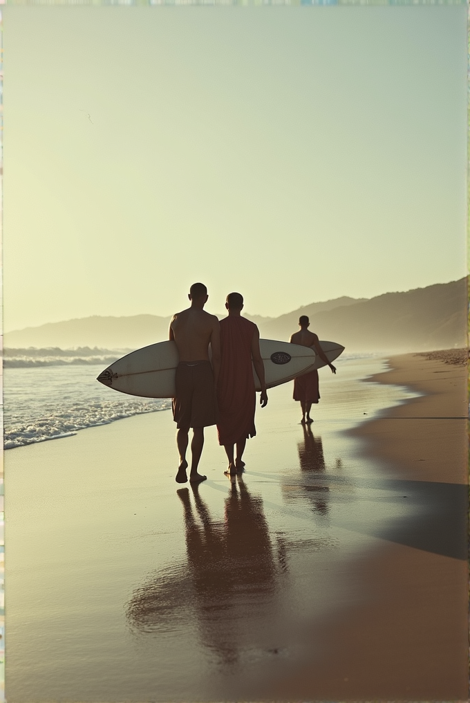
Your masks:
[[[171,318],[169,337],[176,342],[179,364],[176,368],[176,397],[173,399],[173,418],[177,423],[176,444],[180,465],[176,474],[178,483],[186,483],[186,449],[192,427],[192,463],[190,482],[205,481],[207,476],[197,473],[197,465],[204,446],[204,427],[216,424],[216,385],[221,364],[221,333],[218,319],[204,311],[207,288],[194,283],[188,295],[191,307]],[[209,344],[212,364],[209,361]]]

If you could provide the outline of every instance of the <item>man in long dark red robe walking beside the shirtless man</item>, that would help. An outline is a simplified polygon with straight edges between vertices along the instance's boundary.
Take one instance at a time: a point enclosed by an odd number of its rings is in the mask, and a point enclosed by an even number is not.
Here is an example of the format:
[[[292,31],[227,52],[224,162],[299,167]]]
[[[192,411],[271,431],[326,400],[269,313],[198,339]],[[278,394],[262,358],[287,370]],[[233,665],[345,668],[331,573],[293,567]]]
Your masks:
[[[228,317],[221,320],[221,366],[218,374],[218,443],[228,457],[228,472],[234,475],[244,467],[242,456],[248,437],[254,437],[253,365],[261,383],[261,407],[268,403],[264,364],[259,351],[259,329],[241,316],[243,297],[230,293],[226,300]],[[234,459],[234,446],[237,455]]]

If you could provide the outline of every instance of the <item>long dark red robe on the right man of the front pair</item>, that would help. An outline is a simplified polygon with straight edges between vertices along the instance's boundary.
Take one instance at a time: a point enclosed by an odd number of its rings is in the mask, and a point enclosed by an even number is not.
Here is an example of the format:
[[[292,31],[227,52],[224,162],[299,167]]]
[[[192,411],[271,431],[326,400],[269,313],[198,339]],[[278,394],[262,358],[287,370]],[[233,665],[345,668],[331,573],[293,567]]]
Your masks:
[[[236,444],[254,437],[254,390],[252,339],[256,325],[247,318],[221,320],[221,370],[218,376],[218,443]]]

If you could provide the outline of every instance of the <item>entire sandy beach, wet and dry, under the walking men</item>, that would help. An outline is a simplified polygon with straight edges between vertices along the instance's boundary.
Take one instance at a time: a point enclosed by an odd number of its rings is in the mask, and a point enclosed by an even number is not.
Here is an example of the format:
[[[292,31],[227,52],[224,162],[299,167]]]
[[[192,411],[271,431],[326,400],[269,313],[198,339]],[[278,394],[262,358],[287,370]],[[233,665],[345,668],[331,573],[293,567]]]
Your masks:
[[[234,482],[169,411],[6,452],[9,703],[467,698],[466,367],[337,368]]]

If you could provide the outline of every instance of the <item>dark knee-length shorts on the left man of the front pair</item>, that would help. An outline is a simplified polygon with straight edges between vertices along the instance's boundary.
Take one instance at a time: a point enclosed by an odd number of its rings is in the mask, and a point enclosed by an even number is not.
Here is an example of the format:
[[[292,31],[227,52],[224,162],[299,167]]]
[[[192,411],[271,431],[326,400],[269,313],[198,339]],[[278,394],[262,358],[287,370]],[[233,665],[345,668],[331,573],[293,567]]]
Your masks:
[[[181,361],[176,367],[173,419],[178,430],[216,424],[216,394],[210,361]]]

